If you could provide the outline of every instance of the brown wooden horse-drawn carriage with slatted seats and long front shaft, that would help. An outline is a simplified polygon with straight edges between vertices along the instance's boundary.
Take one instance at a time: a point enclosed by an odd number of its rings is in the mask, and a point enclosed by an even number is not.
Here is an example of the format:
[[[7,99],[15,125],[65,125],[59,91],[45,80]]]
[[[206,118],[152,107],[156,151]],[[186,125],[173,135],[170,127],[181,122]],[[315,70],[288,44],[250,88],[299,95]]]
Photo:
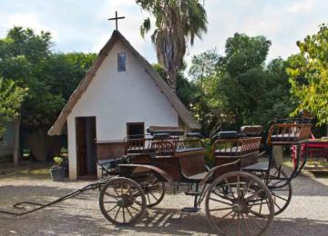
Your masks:
[[[179,130],[150,127],[151,137],[128,137],[123,157],[98,161],[101,180],[56,202],[99,189],[104,216],[115,225],[128,226],[140,221],[147,208],[159,204],[167,187],[176,190],[185,185],[181,188],[194,197],[194,204],[182,211],[199,211],[204,202],[206,217],[217,233],[261,235],[270,229],[274,214],[284,211],[291,201],[291,181],[306,162],[306,158],[302,162],[296,158],[287,174],[282,170],[282,146],[300,146],[310,135],[311,123],[273,123],[266,162],[258,160],[261,127],[244,127],[242,131],[219,133],[211,150],[214,165],[209,168],[199,134],[182,137]],[[35,204],[32,211],[37,211],[56,202],[19,202],[15,208]],[[23,215],[31,211],[0,212]]]

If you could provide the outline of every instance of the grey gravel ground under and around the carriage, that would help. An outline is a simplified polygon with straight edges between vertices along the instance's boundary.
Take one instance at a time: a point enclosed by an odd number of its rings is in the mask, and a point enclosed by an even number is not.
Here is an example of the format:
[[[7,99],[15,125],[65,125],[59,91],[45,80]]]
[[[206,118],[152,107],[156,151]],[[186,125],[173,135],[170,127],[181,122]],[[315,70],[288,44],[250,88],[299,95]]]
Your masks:
[[[328,235],[328,173],[325,177],[299,176],[292,182],[292,202],[274,219],[269,235]],[[0,178],[0,209],[19,201],[49,202],[88,182],[51,182],[48,175]],[[0,235],[209,235],[214,232],[199,213],[182,213],[192,198],[168,194],[138,225],[110,225],[98,208],[98,192],[87,192],[46,210],[22,217],[0,214]]]

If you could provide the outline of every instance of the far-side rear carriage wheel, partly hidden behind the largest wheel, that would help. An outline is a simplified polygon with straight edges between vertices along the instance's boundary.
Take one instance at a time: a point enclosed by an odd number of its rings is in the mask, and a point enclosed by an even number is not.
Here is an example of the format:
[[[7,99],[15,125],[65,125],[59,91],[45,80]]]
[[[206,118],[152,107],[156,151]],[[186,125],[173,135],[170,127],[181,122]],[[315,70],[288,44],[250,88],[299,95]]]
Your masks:
[[[292,183],[288,182],[286,186],[283,186],[287,181],[277,180],[278,174],[278,168],[270,170],[269,181],[267,183],[268,188],[272,192],[274,215],[282,213],[292,200]],[[287,178],[287,174],[282,170],[280,174],[283,178]]]

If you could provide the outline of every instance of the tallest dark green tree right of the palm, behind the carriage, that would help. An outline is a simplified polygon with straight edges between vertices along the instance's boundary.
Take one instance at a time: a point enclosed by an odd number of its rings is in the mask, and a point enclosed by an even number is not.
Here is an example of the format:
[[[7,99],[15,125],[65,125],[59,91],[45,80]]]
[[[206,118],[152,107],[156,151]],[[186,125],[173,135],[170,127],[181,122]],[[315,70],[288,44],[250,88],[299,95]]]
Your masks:
[[[271,42],[264,36],[234,34],[228,38],[225,56],[220,57],[220,90],[233,113],[236,127],[250,123],[261,104],[266,80],[263,66]]]

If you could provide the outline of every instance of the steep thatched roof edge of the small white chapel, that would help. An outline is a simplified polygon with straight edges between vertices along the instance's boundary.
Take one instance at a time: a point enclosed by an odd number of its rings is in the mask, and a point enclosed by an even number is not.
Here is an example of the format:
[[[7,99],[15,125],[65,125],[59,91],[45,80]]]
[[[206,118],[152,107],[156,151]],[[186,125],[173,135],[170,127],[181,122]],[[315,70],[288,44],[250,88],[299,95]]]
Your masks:
[[[58,118],[54,125],[48,131],[49,135],[59,135],[63,129],[67,121],[67,116],[71,113],[73,107],[76,105],[78,99],[81,95],[87,90],[88,85],[91,83],[93,78],[97,74],[97,70],[100,65],[104,62],[105,58],[108,56],[110,50],[113,48],[116,42],[122,42],[124,45],[131,50],[132,54],[137,57],[139,62],[145,68],[145,72],[149,74],[149,76],[154,80],[155,84],[159,87],[161,93],[163,93],[169,102],[172,104],[174,109],[179,114],[179,118],[188,126],[190,129],[200,129],[200,123],[198,123],[195,118],[190,114],[187,108],[181,103],[178,96],[172,92],[169,88],[169,85],[162,79],[162,77],[154,70],[154,68],[149,64],[149,62],[140,54],[138,54],[137,50],[128,43],[128,40],[120,34],[118,31],[114,31],[108,43],[100,50],[99,54],[97,55],[97,59],[95,60],[94,64],[92,64],[91,68],[87,71],[86,76],[83,80],[78,84],[77,89],[72,93],[70,96],[67,104],[65,105],[62,112],[59,114]]]

